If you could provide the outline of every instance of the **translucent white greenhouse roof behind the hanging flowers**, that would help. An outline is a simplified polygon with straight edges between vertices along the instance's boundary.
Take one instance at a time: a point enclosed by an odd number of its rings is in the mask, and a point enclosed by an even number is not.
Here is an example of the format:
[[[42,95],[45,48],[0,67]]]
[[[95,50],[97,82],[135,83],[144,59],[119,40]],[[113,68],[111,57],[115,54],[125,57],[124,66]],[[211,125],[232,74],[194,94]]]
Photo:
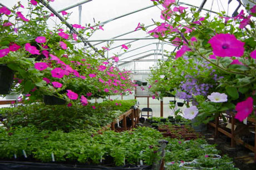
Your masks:
[[[43,0],[40,0],[43,2]],[[21,0],[26,6],[27,0]],[[227,16],[232,16],[236,11],[243,9],[239,0],[180,0],[184,7],[194,6],[205,13],[219,13],[225,11]],[[3,0],[2,4],[11,8],[17,1]],[[120,61],[117,63],[120,68],[136,71],[149,71],[149,67],[155,67],[158,59],[165,60],[168,56],[164,51],[173,52],[175,46],[169,42],[161,42],[147,31],[154,29],[154,22],[164,22],[160,18],[162,6],[154,6],[152,1],[120,1],[120,0],[55,0],[50,3],[53,10],[60,13],[66,11],[71,13],[67,20],[70,24],[81,24],[86,26],[89,23],[95,26],[100,23],[104,30],[99,29],[93,35],[80,44],[80,47],[102,49],[113,42],[106,51],[105,56],[110,58],[118,55]],[[61,16],[61,15],[60,15]],[[57,21],[58,20],[58,21]],[[60,19],[56,18],[60,23]],[[135,28],[143,24],[147,31]],[[88,46],[88,44],[91,46]],[[127,51],[121,45],[129,46]]]

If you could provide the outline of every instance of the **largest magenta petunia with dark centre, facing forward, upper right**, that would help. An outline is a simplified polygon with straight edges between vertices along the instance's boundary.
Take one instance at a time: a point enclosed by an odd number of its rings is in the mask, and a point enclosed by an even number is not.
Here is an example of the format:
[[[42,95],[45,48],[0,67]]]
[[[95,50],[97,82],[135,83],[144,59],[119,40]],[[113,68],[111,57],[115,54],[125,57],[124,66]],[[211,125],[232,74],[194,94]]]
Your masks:
[[[216,34],[209,42],[213,53],[219,57],[241,57],[244,54],[244,42],[233,34]]]

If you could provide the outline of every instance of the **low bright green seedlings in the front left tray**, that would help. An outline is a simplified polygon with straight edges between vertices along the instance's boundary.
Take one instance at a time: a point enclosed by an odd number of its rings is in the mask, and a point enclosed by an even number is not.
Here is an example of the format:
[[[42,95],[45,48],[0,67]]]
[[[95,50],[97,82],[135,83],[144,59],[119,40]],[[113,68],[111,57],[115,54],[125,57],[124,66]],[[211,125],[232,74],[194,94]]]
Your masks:
[[[124,163],[138,164],[138,159],[152,164],[157,157],[160,132],[151,128],[139,127],[134,131],[117,133],[105,131],[102,134],[88,131],[39,131],[33,126],[0,128],[1,158],[13,158],[13,154],[27,156],[38,161],[51,162],[53,153],[56,162],[70,161],[100,164],[107,156],[114,158],[116,166]],[[143,154],[140,154],[143,151]],[[124,162],[125,160],[125,162]]]

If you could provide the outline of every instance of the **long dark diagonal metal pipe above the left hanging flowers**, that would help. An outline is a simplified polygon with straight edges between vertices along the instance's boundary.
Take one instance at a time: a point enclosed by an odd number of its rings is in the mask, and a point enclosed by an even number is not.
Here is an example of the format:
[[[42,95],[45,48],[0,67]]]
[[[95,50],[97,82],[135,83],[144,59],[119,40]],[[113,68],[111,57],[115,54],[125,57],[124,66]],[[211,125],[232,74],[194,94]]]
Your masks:
[[[82,41],[85,45],[88,44],[88,46],[90,46],[96,53],[100,54],[100,56],[102,56],[102,57],[105,58],[105,56],[104,56],[103,54],[99,53],[99,52],[97,51],[97,49],[92,46],[91,43],[86,42],[86,41],[87,41],[87,38],[81,36],[80,33],[78,33],[78,32],[76,31],[76,29],[74,29],[74,28],[71,26],[70,23],[68,23],[57,11],[55,11],[55,9],[53,9],[53,8],[50,6],[50,4],[49,4],[48,2],[46,2],[45,0],[39,0],[39,1],[40,1],[44,6],[46,6],[53,14],[55,14],[56,17],[58,17],[62,22],[64,22],[64,23],[66,24],[66,26],[67,26],[68,28],[70,28],[70,31],[72,31],[73,33],[76,33],[77,36],[78,36],[79,38],[81,38],[81,41]]]

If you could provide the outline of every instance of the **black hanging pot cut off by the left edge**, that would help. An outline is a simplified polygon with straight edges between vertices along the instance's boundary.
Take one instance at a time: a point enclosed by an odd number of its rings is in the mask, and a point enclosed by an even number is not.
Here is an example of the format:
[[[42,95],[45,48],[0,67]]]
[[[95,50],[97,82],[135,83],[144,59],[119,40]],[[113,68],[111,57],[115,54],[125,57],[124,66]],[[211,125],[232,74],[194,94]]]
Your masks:
[[[14,71],[4,64],[0,64],[0,94],[9,94],[14,78]]]

